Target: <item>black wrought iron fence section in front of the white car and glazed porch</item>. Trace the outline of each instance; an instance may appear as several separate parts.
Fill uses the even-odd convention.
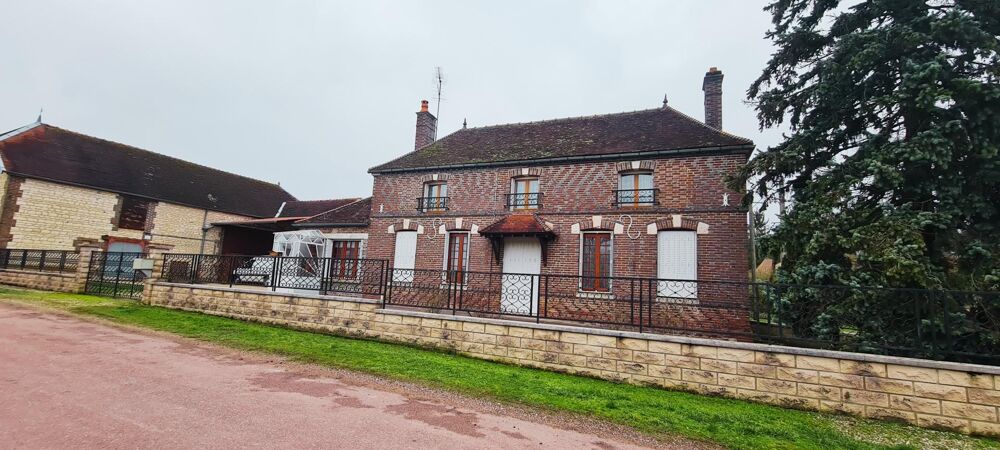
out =
[[[381,296],[386,261],[285,256],[167,254],[162,278],[175,283],[260,286]]]

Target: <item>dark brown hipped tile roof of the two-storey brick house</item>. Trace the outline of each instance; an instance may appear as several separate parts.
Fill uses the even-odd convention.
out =
[[[750,147],[671,107],[458,130],[372,173],[507,161]]]

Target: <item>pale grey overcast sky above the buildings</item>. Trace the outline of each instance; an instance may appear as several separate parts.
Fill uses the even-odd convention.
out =
[[[281,3],[279,5],[279,3]],[[761,133],[745,92],[772,51],[765,2],[0,0],[0,132],[44,122],[279,182],[367,196],[413,148],[421,99],[461,127],[671,106]]]

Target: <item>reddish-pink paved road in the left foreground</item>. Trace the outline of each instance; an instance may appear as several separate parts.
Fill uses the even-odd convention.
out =
[[[611,449],[641,441],[504,411],[0,302],[4,448]]]

